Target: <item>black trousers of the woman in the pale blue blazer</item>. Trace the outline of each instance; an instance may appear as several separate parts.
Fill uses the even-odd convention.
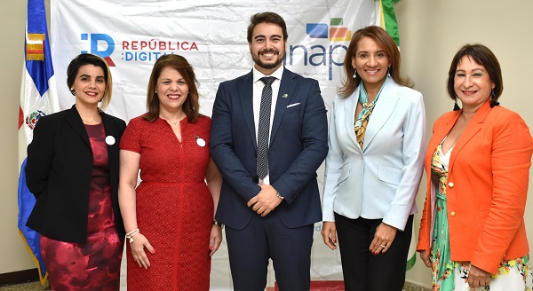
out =
[[[346,291],[401,291],[412,235],[413,216],[398,231],[385,254],[370,253],[381,219],[350,219],[335,213],[338,246]]]

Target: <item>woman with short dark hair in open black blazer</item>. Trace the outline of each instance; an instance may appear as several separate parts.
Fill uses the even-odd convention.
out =
[[[39,119],[28,146],[26,184],[36,206],[27,225],[41,233],[54,290],[118,290],[118,143],[126,124],[100,109],[112,93],[104,59],[80,54],[67,75],[76,104]]]

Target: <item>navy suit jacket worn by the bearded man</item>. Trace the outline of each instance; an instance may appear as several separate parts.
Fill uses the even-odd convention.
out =
[[[220,83],[213,106],[211,157],[224,177],[216,219],[243,229],[246,203],[261,190],[252,73]],[[289,228],[322,220],[316,169],[328,153],[328,122],[318,82],[283,70],[268,148],[270,184],[285,198],[269,216]]]

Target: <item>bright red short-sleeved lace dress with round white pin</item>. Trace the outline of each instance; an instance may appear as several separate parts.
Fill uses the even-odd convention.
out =
[[[136,189],[137,223],[155,254],[150,267],[133,261],[127,245],[128,290],[209,290],[209,239],[213,217],[211,193],[204,182],[211,160],[211,119],[179,122],[181,142],[163,119],[140,116],[128,124],[121,150],[140,153]]]

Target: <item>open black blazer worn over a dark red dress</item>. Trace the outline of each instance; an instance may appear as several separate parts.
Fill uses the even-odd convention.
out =
[[[118,143],[126,128],[123,120],[101,113],[107,145],[109,177],[115,224],[125,235],[118,208]],[[84,122],[76,107],[39,119],[28,146],[26,185],[36,196],[28,227],[53,240],[84,243],[92,173],[92,149]]]

